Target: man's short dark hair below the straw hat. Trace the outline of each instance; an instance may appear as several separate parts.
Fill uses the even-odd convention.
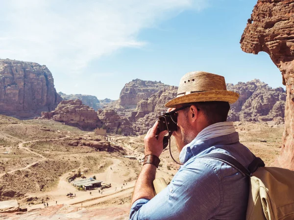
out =
[[[230,110],[230,104],[221,101],[194,102],[187,104],[194,105],[197,109],[203,111],[203,114],[210,125],[226,121]],[[188,112],[188,110],[189,108],[186,112]]]

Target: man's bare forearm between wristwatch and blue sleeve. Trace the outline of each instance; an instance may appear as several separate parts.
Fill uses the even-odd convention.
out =
[[[153,180],[155,179],[156,167],[152,164],[145,164],[135,185],[132,204],[139,198],[151,199],[155,196]]]

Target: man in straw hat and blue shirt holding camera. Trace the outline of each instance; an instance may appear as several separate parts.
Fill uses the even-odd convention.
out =
[[[181,78],[177,97],[166,104],[177,113],[173,132],[183,163],[171,183],[155,196],[155,178],[163,151],[163,131],[155,137],[157,122],[147,132],[145,160],[135,185],[131,220],[242,220],[245,219],[249,179],[216,159],[200,158],[223,153],[247,167],[253,154],[239,142],[232,122],[227,122],[229,104],[239,94],[226,90],[224,77],[190,72]]]

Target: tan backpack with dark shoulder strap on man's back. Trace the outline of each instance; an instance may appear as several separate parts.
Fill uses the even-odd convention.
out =
[[[204,157],[221,160],[250,177],[246,220],[294,220],[294,171],[265,167],[259,157],[247,169],[227,154],[201,156]]]

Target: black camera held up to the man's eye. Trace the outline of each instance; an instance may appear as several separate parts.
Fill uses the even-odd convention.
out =
[[[177,130],[176,125],[177,114],[175,112],[162,112],[162,115],[158,117],[158,126],[156,131],[156,137],[162,131],[168,130],[169,135]],[[165,149],[169,144],[169,136],[164,136],[163,138],[163,149]]]

